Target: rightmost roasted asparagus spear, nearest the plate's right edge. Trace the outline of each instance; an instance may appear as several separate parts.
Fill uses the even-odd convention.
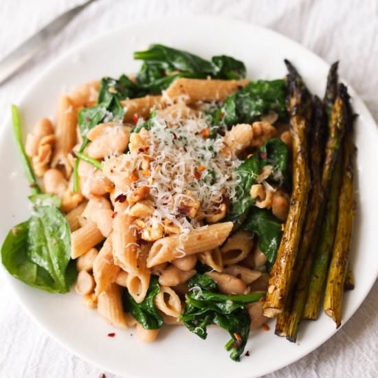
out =
[[[348,131],[346,133],[335,243],[333,245],[333,254],[324,295],[324,311],[333,318],[337,328],[342,322],[342,296],[348,271],[355,215],[353,188],[355,151],[353,125],[350,123],[348,124]]]

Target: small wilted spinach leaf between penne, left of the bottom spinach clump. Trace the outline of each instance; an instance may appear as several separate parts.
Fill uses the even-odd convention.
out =
[[[141,303],[135,302],[129,292],[127,290],[124,291],[126,311],[130,311],[135,320],[137,320],[144,329],[159,329],[163,325],[163,319],[157,312],[153,302],[159,291],[159,282],[155,276],[151,277],[146,298],[144,298]]]

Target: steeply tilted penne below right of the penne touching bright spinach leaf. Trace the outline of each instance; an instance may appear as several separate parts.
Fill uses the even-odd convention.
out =
[[[96,281],[96,295],[99,296],[109,284],[117,280],[120,267],[114,264],[112,236],[109,236],[93,261],[93,276]]]

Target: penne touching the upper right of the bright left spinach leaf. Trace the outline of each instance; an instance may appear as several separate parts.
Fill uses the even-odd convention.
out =
[[[71,258],[78,258],[103,240],[96,223],[88,221],[71,234]]]

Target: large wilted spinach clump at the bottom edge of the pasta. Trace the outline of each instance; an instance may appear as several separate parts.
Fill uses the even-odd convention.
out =
[[[249,315],[245,305],[257,302],[265,293],[229,296],[218,291],[218,285],[208,276],[196,274],[188,281],[190,293],[186,294],[186,308],[180,320],[202,339],[208,336],[207,326],[218,324],[228,331],[231,340],[225,348],[230,357],[239,360],[249,336]]]

